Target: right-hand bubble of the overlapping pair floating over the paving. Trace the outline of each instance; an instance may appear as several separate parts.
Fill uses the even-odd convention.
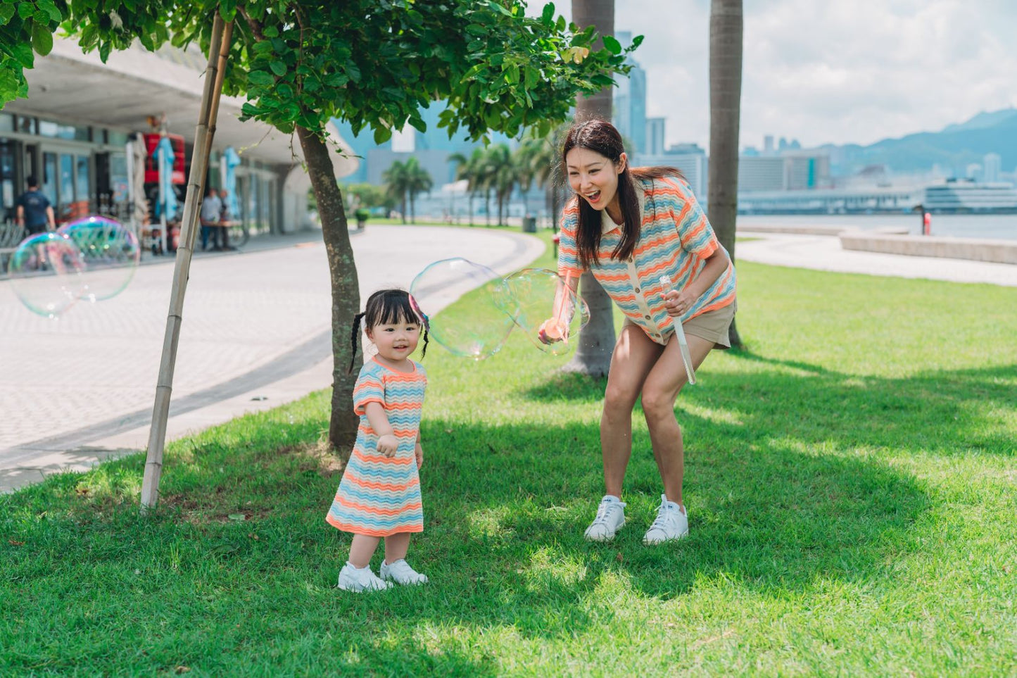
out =
[[[84,262],[81,298],[101,301],[119,294],[134,277],[141,248],[137,236],[102,216],[85,217],[60,227],[77,245]]]

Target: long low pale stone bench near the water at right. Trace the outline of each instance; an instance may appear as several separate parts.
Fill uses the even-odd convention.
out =
[[[889,235],[871,231],[843,231],[840,246],[911,257],[944,257],[1017,265],[1017,241],[954,238],[936,235]]]

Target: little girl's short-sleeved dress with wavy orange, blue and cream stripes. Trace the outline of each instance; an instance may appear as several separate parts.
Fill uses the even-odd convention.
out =
[[[325,516],[328,524],[338,529],[370,536],[424,529],[414,451],[427,373],[420,363],[411,362],[413,372],[402,373],[374,357],[360,371],[353,390],[353,408],[360,415],[357,442]],[[377,451],[378,436],[365,412],[369,402],[384,407],[399,439],[399,449],[392,457]]]

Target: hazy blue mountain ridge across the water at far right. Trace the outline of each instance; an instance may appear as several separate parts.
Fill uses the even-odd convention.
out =
[[[1017,166],[1017,109],[979,113],[938,132],[886,138],[870,146],[820,148],[830,152],[830,171],[837,176],[854,174],[870,165],[886,165],[893,172],[917,172],[939,165],[963,176],[967,165],[980,163],[988,153],[999,154],[1003,171],[1010,172]]]

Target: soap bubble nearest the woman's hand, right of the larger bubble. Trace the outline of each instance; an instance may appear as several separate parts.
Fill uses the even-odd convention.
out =
[[[590,309],[566,281],[547,269],[523,269],[505,278],[513,320],[537,348],[553,355],[576,349]]]

